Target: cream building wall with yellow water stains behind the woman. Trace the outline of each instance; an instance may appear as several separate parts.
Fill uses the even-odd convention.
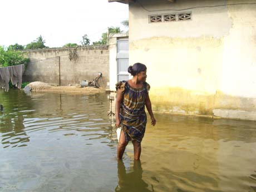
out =
[[[256,0],[109,2],[129,4],[154,111],[256,120]]]

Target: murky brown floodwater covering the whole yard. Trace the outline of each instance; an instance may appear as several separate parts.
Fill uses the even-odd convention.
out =
[[[116,160],[107,95],[0,90],[0,191],[256,191],[256,124],[156,114]]]

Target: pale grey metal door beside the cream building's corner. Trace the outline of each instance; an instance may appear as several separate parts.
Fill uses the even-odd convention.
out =
[[[129,41],[117,40],[117,81],[129,80]]]

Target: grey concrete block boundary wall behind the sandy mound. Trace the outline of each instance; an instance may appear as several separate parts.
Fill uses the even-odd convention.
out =
[[[24,51],[29,57],[23,81],[42,81],[62,86],[93,80],[102,72],[102,87],[109,82],[109,46],[76,48],[77,60],[70,60],[75,48],[49,48]]]

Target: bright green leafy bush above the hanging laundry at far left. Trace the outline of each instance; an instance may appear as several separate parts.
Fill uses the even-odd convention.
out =
[[[0,46],[0,66],[8,67],[24,64],[26,67],[28,62],[29,58],[24,57],[21,51],[5,50],[4,47]]]

